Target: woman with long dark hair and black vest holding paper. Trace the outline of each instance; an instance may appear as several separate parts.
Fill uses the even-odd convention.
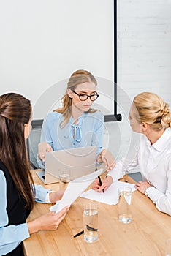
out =
[[[22,241],[39,230],[56,230],[68,207],[26,223],[34,200],[55,203],[63,192],[34,185],[26,152],[31,103],[20,94],[0,96],[0,255],[23,255]]]

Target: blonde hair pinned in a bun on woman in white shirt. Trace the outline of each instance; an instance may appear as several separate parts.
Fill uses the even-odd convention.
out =
[[[167,102],[152,92],[142,92],[134,97],[133,105],[137,109],[134,116],[140,123],[150,124],[155,130],[171,127],[171,112]]]

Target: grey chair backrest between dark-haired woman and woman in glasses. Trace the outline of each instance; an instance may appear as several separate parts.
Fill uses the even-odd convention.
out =
[[[39,169],[39,166],[37,165],[37,153],[42,129],[42,122],[42,119],[32,121],[32,130],[28,139],[26,140],[28,158],[30,160],[31,167],[34,169]]]

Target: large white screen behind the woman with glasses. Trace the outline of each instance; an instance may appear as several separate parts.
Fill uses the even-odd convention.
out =
[[[112,0],[0,1],[1,94],[24,94],[44,118],[72,72],[87,69],[98,80],[94,106],[112,114],[113,15]]]

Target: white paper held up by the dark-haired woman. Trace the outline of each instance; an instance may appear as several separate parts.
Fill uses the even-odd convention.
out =
[[[94,173],[90,173],[86,176],[76,178],[73,181],[69,182],[68,187],[66,188],[63,197],[56,205],[50,207],[50,211],[61,211],[65,206],[70,206],[79,195],[94,181],[94,179],[99,176],[104,170],[99,169]]]

